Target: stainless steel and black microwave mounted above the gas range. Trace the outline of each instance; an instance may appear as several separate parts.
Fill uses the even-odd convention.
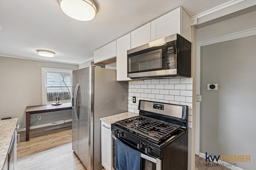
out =
[[[174,34],[127,51],[132,79],[191,76],[191,43]]]

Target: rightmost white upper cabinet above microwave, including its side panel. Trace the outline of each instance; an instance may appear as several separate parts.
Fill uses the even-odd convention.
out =
[[[151,41],[180,34],[191,42],[190,16],[179,7],[154,21],[151,21]]]

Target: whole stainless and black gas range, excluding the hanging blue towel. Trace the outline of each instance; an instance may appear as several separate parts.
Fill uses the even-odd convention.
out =
[[[139,109],[138,116],[111,125],[112,169],[118,138],[141,152],[141,170],[187,170],[188,106],[140,100]]]

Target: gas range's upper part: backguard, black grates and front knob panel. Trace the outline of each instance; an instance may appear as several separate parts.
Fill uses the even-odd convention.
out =
[[[186,138],[187,143],[188,106],[140,100],[139,109],[138,116],[111,125],[113,136],[159,159],[163,159],[165,148],[177,139]]]

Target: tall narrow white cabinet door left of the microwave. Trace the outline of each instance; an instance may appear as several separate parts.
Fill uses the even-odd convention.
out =
[[[116,40],[116,80],[131,80],[127,77],[127,50],[131,49],[131,33]]]

